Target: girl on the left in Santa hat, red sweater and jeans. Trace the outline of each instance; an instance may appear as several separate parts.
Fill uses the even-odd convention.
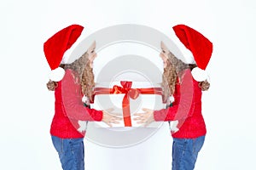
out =
[[[62,42],[65,42],[62,37],[69,41],[64,46],[70,43],[72,45],[82,30],[81,26],[69,26],[49,38],[44,43],[44,53],[48,61],[50,57],[57,57],[58,51],[55,48],[60,48]],[[70,42],[72,39],[73,42]],[[55,53],[49,51],[53,49],[52,46],[55,47]],[[85,107],[82,101],[83,95],[91,99],[93,94],[92,62],[96,58],[95,48],[96,42],[93,42],[79,59],[71,64],[60,65],[64,69],[64,76],[61,80],[49,80],[47,83],[47,88],[55,91],[55,116],[51,123],[50,134],[64,170],[84,170],[83,141],[88,121],[102,121],[109,126],[119,121],[118,117],[110,115],[107,111],[96,111]],[[62,55],[63,53],[61,57]],[[61,68],[57,70],[61,71]]]

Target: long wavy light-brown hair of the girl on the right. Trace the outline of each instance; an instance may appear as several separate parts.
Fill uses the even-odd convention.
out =
[[[165,99],[174,94],[175,86],[179,82],[177,80],[182,80],[182,73],[185,69],[194,69],[196,65],[194,64],[186,64],[181,59],[177,59],[177,57],[172,54],[171,51],[167,56],[166,60],[166,68],[164,68],[164,72],[162,75],[162,88]],[[203,82],[199,82],[199,87],[202,91],[208,90],[210,88],[210,83],[207,80]]]

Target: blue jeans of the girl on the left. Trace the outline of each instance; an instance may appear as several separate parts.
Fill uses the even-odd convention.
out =
[[[84,138],[61,139],[51,136],[63,170],[84,170]]]

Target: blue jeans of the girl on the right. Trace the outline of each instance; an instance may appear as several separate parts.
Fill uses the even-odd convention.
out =
[[[173,139],[172,170],[193,170],[198,152],[204,144],[205,136],[195,139]]]

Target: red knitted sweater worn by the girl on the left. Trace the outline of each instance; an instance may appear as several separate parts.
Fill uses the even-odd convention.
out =
[[[102,111],[84,107],[79,79],[68,69],[55,88],[55,116],[50,134],[62,139],[83,138],[84,121],[102,121]]]

